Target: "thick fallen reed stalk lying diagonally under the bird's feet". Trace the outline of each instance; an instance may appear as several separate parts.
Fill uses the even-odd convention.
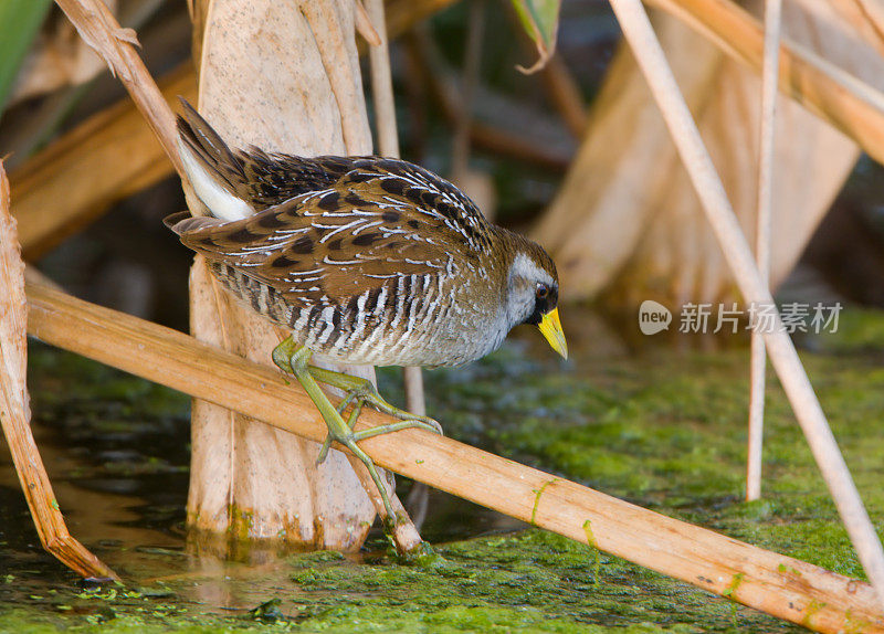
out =
[[[192,337],[29,284],[29,332],[48,344],[319,441],[326,427],[275,369]],[[292,411],[309,415],[292,416]],[[392,419],[366,410],[359,426]],[[360,443],[415,480],[819,632],[884,632],[874,590],[419,430]],[[506,495],[502,495],[506,492]]]

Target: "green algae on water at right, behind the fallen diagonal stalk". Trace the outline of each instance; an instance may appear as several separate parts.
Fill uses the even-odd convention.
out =
[[[876,318],[881,320],[880,315]],[[881,337],[884,329],[864,325]],[[852,337],[854,350],[869,350]],[[877,339],[876,339],[877,340]],[[884,371],[880,361],[829,345],[803,353],[832,430],[870,515],[884,526],[880,487]],[[567,475],[671,516],[787,552],[836,572],[863,577],[803,435],[776,380],[770,381],[765,441],[765,499],[745,503],[748,358],[650,353],[643,364],[610,362],[594,371],[611,387],[603,399],[575,390],[565,406],[580,415],[558,426],[540,418],[490,430],[494,446],[516,459]],[[672,364],[680,366],[673,372]],[[612,378],[614,380],[612,380]],[[535,381],[547,381],[538,374]],[[550,378],[558,391],[558,379]],[[610,394],[617,404],[608,404]]]

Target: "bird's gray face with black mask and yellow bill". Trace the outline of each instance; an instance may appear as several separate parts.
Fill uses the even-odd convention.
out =
[[[558,300],[559,284],[552,274],[530,255],[517,254],[507,277],[505,305],[509,325],[537,326],[552,349],[567,359],[568,345],[559,321]]]

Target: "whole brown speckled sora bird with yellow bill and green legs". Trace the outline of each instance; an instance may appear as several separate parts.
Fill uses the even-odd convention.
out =
[[[552,260],[488,223],[456,187],[419,166],[231,150],[181,102],[181,160],[212,215],[182,212],[166,224],[235,297],[292,331],[273,360],[323,414],[328,437],[319,462],[332,441],[348,447],[393,518],[357,443],[414,426],[441,432],[439,424],[390,405],[365,379],[308,364],[311,355],[354,364],[459,366],[498,348],[514,326],[534,324],[567,357]],[[317,381],[346,390],[346,398],[334,406]],[[365,404],[400,421],[356,432]]]

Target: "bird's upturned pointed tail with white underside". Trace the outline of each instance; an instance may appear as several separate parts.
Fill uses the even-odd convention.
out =
[[[242,193],[246,180],[242,159],[187,99],[179,99],[178,151],[194,192],[215,218],[232,221],[252,215],[255,210]]]

